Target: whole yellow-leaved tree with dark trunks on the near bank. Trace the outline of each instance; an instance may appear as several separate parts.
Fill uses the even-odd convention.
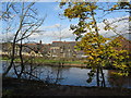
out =
[[[64,4],[66,2],[61,2],[60,7]],[[79,19],[78,25],[71,25],[71,29],[78,36],[76,40],[81,38],[81,41],[78,42],[78,49],[85,52],[85,56],[87,56],[87,65],[92,68],[87,82],[92,82],[94,73],[96,73],[97,86],[100,86],[99,82],[102,82],[102,86],[105,87],[103,73],[105,64],[108,62],[119,68],[119,70],[122,66],[122,71],[128,74],[127,65],[120,63],[124,59],[123,53],[127,56],[128,52],[127,50],[118,51],[114,48],[120,47],[120,42],[117,39],[111,41],[114,38],[106,38],[99,34],[98,22],[96,20],[98,8],[97,2],[69,2],[63,15],[70,20]],[[121,58],[118,58],[119,56]]]

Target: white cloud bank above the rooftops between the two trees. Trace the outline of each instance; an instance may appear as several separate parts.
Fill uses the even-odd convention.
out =
[[[75,35],[73,35],[72,30],[69,30],[70,27],[60,27],[61,29],[57,29],[60,27],[60,24],[55,24],[51,26],[43,26],[40,28],[45,29],[46,32],[37,33],[28,37],[31,40],[44,40],[44,42],[51,42],[55,40],[75,40]],[[52,29],[51,29],[52,28]],[[56,29],[55,29],[56,28]],[[40,30],[40,29],[39,29]]]

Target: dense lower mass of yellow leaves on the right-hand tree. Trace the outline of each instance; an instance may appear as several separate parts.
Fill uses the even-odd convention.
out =
[[[106,42],[106,41],[109,42]],[[86,33],[86,35],[78,42],[78,47],[87,56],[88,64],[106,63],[110,61],[111,65],[119,70],[127,70],[127,63],[123,63],[126,59],[129,59],[129,52],[127,50],[116,50],[115,47],[120,47],[121,42],[118,39],[105,38],[102,35],[95,33]]]

